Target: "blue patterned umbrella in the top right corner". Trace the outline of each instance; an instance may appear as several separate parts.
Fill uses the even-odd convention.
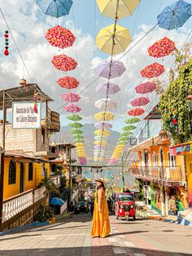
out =
[[[157,16],[158,24],[163,29],[177,29],[182,27],[191,16],[191,4],[183,0],[165,7]]]

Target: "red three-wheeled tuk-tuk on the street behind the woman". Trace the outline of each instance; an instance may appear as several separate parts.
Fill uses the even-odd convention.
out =
[[[126,218],[126,220],[129,220],[129,217],[136,219],[136,204],[133,199],[133,193],[127,192],[117,194],[115,214],[117,219]]]

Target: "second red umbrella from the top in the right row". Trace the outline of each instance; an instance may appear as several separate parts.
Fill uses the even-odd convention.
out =
[[[154,64],[146,66],[146,68],[143,68],[141,71],[142,77],[147,78],[159,77],[159,75],[161,75],[162,73],[164,73],[164,65],[156,62]]]

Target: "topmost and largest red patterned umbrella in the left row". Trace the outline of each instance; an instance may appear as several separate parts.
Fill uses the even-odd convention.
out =
[[[63,49],[72,46],[76,38],[70,30],[58,25],[47,30],[46,40],[50,42],[51,46],[56,46]]]

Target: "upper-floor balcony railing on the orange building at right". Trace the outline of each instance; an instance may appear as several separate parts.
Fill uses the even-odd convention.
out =
[[[146,179],[158,183],[182,183],[181,166],[140,167],[130,169],[131,174],[137,179]]]

